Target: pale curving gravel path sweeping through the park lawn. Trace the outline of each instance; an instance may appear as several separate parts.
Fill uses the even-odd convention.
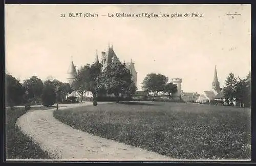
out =
[[[91,102],[82,105],[91,105]],[[61,106],[61,105],[60,105]],[[69,107],[80,105],[69,105]],[[67,109],[60,107],[59,109]],[[53,117],[54,109],[34,110],[18,118],[16,125],[56,159],[74,160],[170,160],[155,152],[132,147],[74,129]]]

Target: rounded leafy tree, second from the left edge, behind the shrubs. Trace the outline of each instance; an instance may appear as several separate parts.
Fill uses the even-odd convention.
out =
[[[26,79],[23,85],[25,87],[25,90],[27,91],[29,99],[32,99],[34,97],[39,98],[42,94],[42,88],[44,88],[42,80],[37,76],[32,76],[31,78]]]

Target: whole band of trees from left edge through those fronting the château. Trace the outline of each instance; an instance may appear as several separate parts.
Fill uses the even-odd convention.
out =
[[[53,105],[65,101],[72,91],[81,96],[80,102],[88,91],[92,92],[94,101],[99,96],[114,94],[118,102],[119,95],[131,97],[136,90],[130,70],[121,62],[110,63],[103,71],[99,62],[83,66],[78,70],[72,85],[57,79],[42,82],[37,76],[26,79],[22,84],[11,74],[6,74],[6,104],[9,106],[40,102]]]

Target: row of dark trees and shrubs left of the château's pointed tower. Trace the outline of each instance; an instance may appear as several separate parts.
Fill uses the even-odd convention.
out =
[[[72,92],[68,83],[57,79],[47,79],[42,82],[37,76],[32,76],[21,83],[11,74],[6,74],[6,104],[15,106],[26,103],[43,103],[53,105],[55,101],[63,102]]]

